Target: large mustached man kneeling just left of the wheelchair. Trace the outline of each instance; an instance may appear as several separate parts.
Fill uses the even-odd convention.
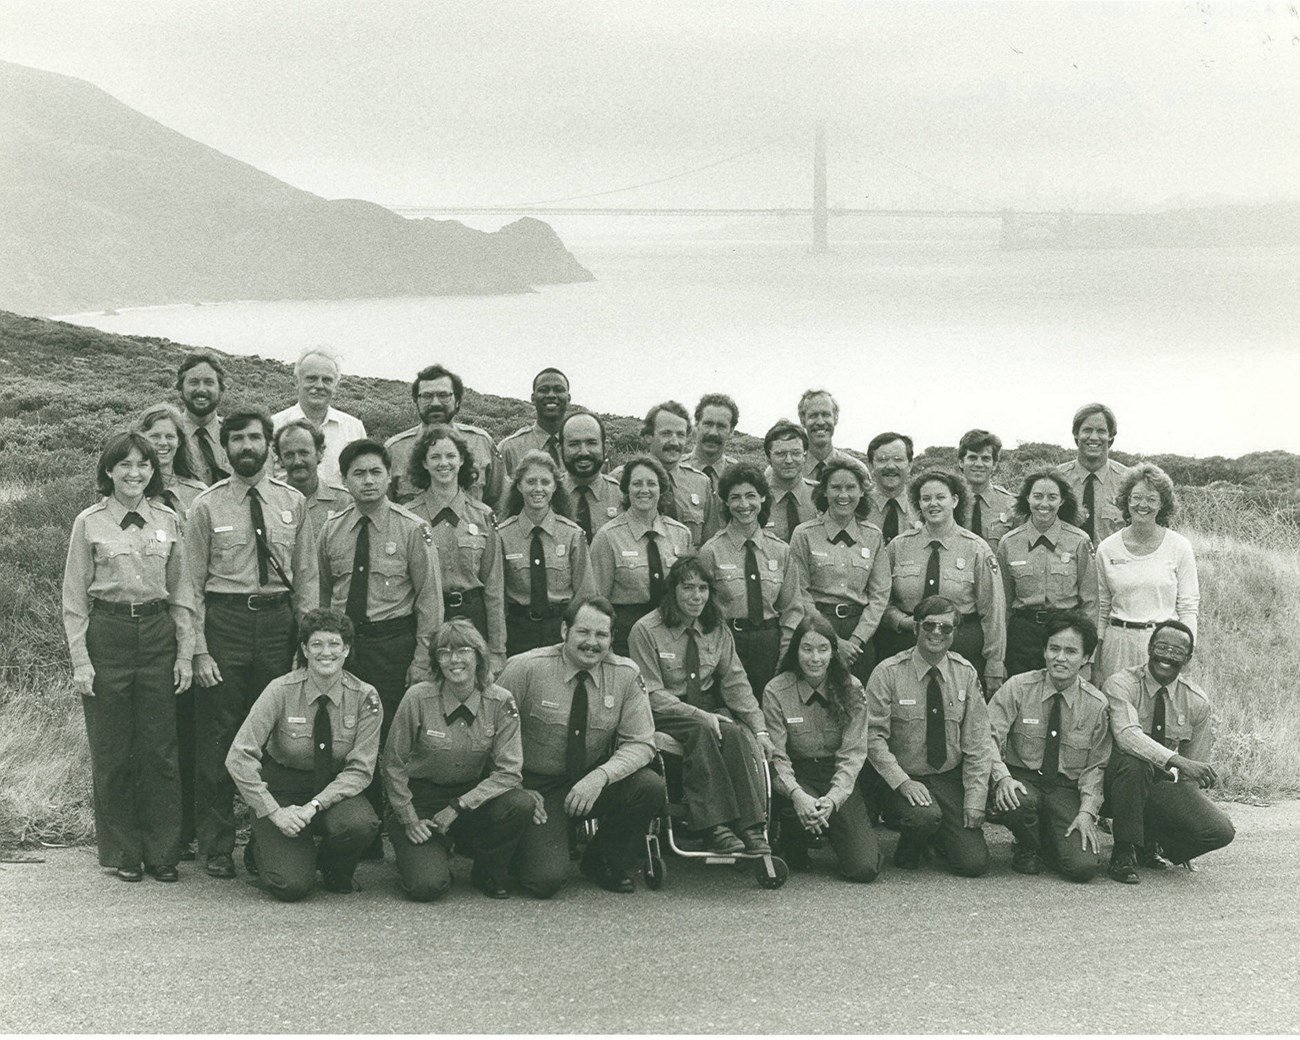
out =
[[[515,694],[523,723],[524,789],[541,802],[515,853],[514,875],[538,898],[568,878],[568,824],[588,816],[599,829],[581,871],[607,892],[633,892],[629,871],[646,828],[663,807],[654,758],[650,697],[637,666],[610,653],[614,607],[575,599],[563,642],[512,656],[497,679]]]

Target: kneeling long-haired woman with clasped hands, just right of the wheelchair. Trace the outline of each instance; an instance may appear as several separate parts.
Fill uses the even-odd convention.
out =
[[[763,716],[772,734],[774,786],[783,814],[781,857],[807,866],[809,835],[826,832],[850,881],[874,881],[884,862],[858,774],[867,760],[867,699],[838,655],[840,637],[820,614],[794,629],[781,670],[767,684]]]

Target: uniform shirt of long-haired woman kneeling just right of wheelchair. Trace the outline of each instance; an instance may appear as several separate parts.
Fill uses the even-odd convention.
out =
[[[853,710],[844,725],[836,720],[820,697],[794,672],[781,672],[763,693],[763,718],[776,745],[772,772],[777,792],[789,798],[800,789],[794,763],[811,758],[835,757],[835,776],[827,797],[841,809],[853,794],[858,774],[867,760],[867,694],[855,676],[850,699]],[[824,696],[824,694],[823,694]]]

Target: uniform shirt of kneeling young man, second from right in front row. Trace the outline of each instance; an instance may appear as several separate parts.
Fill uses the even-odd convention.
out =
[[[1049,698],[1056,688],[1045,670],[1013,675],[988,702],[997,758],[993,783],[1010,776],[1008,766],[1041,770],[1046,749]],[[1061,702],[1061,744],[1057,768],[1079,784],[1079,809],[1101,811],[1102,780],[1110,760],[1110,712],[1105,694],[1082,679],[1065,690]]]

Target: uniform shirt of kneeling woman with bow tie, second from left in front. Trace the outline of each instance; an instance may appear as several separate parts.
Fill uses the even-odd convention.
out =
[[[474,786],[460,796],[465,809],[477,809],[520,785],[524,745],[515,698],[500,686],[474,690],[464,706],[471,722],[451,716],[462,702],[442,682],[417,682],[398,705],[384,746],[384,789],[398,822],[419,819],[411,801],[411,781]]]

